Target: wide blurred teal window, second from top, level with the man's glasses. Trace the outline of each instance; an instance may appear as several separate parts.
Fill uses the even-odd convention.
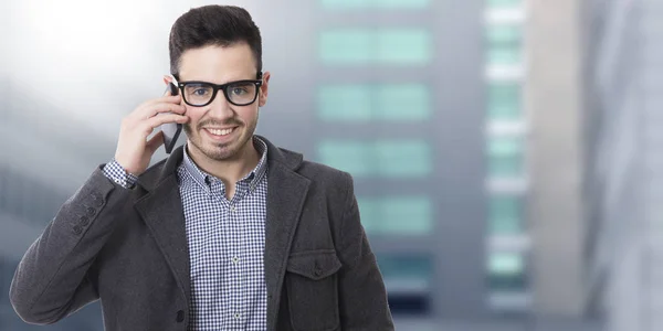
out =
[[[421,121],[431,116],[430,89],[423,84],[326,85],[318,90],[325,121]]]

